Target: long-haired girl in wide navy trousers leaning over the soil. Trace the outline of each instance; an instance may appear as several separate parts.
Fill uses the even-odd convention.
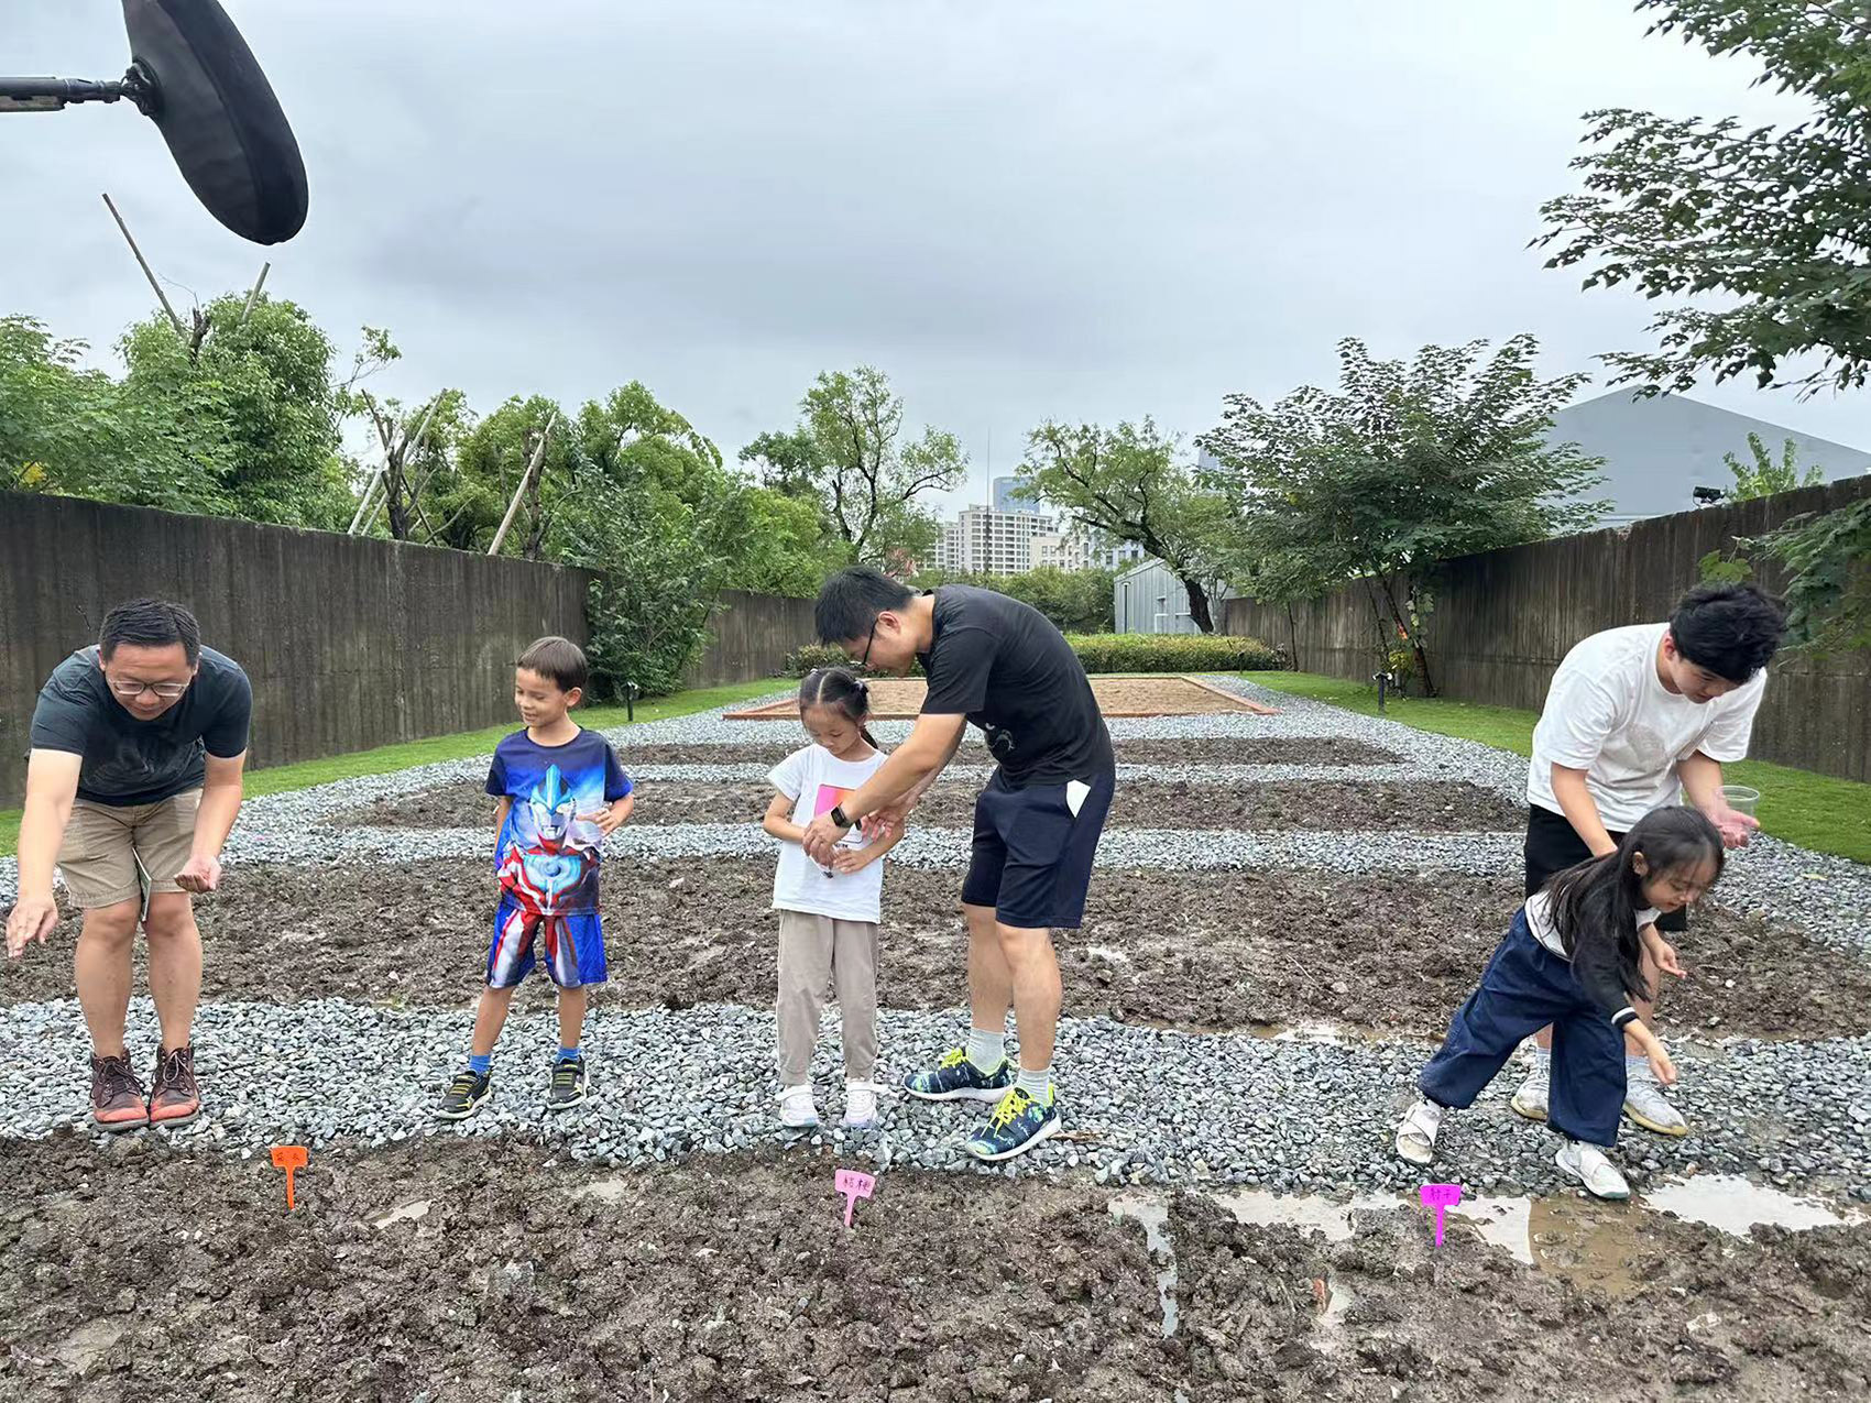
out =
[[[1701,900],[1721,862],[1721,834],[1701,812],[1658,808],[1615,853],[1566,868],[1529,896],[1424,1066],[1416,1081],[1424,1100],[1398,1126],[1398,1154],[1429,1164],[1443,1111],[1472,1106],[1521,1040],[1551,1023],[1547,1124],[1566,1137],[1555,1164],[1600,1199],[1630,1197],[1603,1154],[1617,1145],[1624,1107],[1624,1036],[1643,1048],[1658,1081],[1676,1081],[1661,1040],[1632,1006],[1654,997],[1639,965],[1641,932]],[[1682,975],[1676,952],[1661,950],[1660,967]]]

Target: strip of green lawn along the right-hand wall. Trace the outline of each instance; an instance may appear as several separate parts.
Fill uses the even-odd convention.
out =
[[[1278,692],[1330,702],[1366,716],[1377,715],[1377,688],[1370,683],[1319,677],[1310,672],[1240,675]],[[1497,750],[1512,750],[1516,756],[1532,754],[1532,728],[1540,720],[1538,713],[1517,707],[1484,707],[1416,696],[1386,700],[1385,715],[1418,731],[1480,741]],[[1762,831],[1800,847],[1811,847],[1815,853],[1837,853],[1856,862],[1871,862],[1871,784],[1809,774],[1762,759],[1723,765],[1723,776],[1731,784],[1748,784],[1761,791]]]

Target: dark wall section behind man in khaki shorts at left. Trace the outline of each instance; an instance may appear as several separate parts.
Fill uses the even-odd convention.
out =
[[[513,658],[586,642],[586,574],[329,531],[0,492],[0,806],[21,803],[47,673],[159,595],[253,679],[253,763],[513,720]]]

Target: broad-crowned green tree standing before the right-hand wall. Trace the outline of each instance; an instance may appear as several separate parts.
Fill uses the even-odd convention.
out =
[[[1514,337],[1424,346],[1409,363],[1338,346],[1342,389],[1304,385],[1276,404],[1229,395],[1203,436],[1211,483],[1239,503],[1237,571],[1265,599],[1362,578],[1377,657],[1411,649],[1435,694],[1422,621],[1429,567],[1456,556],[1579,529],[1603,511],[1577,501],[1600,460],[1551,445],[1553,413],[1585,376],[1540,382],[1538,342]]]

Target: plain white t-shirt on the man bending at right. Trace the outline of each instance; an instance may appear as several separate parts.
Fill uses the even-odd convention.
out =
[[[1574,647],[1553,673],[1532,733],[1527,801],[1560,814],[1553,765],[1585,771],[1585,788],[1613,832],[1676,803],[1676,763],[1701,750],[1723,763],[1746,759],[1766,668],[1746,685],[1695,703],[1663,690],[1656,675],[1667,623],[1607,629]]]

